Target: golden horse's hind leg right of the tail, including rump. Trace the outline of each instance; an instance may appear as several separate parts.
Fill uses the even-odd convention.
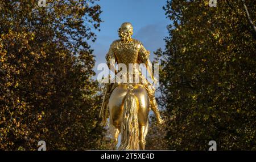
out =
[[[147,91],[143,86],[136,86],[134,94],[139,102],[138,121],[139,121],[139,148],[145,150],[146,135],[148,131],[148,111],[150,100],[148,99]]]

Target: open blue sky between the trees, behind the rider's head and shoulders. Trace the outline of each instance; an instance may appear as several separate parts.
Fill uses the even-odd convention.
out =
[[[133,24],[133,38],[150,50],[151,61],[156,49],[164,49],[163,39],[168,34],[167,24],[170,24],[163,10],[166,0],[101,0],[97,4],[101,6],[103,22],[101,31],[96,31],[96,42],[90,43],[96,56],[96,73],[99,73],[97,65],[106,62],[106,53],[112,41],[118,39],[117,30],[123,22]]]

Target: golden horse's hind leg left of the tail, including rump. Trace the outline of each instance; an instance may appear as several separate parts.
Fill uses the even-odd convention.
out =
[[[112,150],[118,144],[118,136],[120,133],[120,125],[123,114],[123,100],[126,96],[127,89],[125,86],[116,87],[109,98],[109,114],[110,114],[110,134],[112,136]]]

